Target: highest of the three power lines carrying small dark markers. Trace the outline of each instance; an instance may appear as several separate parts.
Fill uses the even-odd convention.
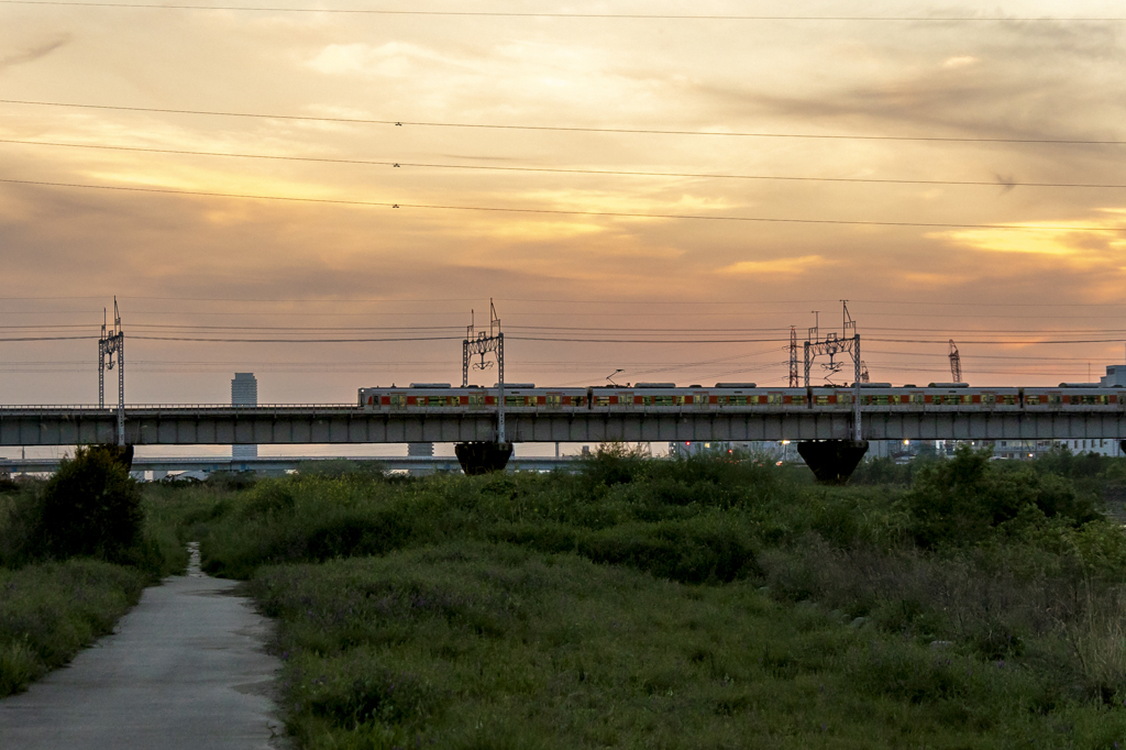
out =
[[[0,3],[5,0],[0,0]],[[245,111],[221,111],[213,109],[170,109],[162,107],[123,107],[115,105],[91,105],[66,101],[33,101],[27,99],[0,99],[0,104],[30,105],[37,107],[70,107],[78,109],[108,109],[114,111],[148,111],[166,115],[208,115],[214,117],[248,117],[257,119],[286,119],[313,123],[351,123],[357,125],[392,125],[414,127],[471,127],[479,130],[500,131],[547,131],[555,133],[624,133],[629,135],[709,135],[740,136],[756,139],[808,139],[831,141],[919,141],[938,143],[1039,143],[1060,145],[1126,145],[1126,140],[1091,140],[1091,139],[985,139],[957,136],[924,135],[848,135],[843,133],[770,133],[743,131],[665,131],[653,128],[629,127],[572,127],[561,125],[508,125],[495,123],[439,123],[432,120],[406,119],[368,119],[361,117],[316,117],[312,115],[278,115]]]

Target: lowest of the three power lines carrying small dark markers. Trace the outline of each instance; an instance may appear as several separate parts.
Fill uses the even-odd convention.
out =
[[[200,196],[209,198],[244,198],[250,200],[284,200],[289,203],[309,203],[339,206],[364,206],[378,208],[419,208],[423,211],[466,211],[482,213],[506,213],[506,214],[539,214],[554,216],[592,216],[606,218],[667,218],[667,220],[690,220],[690,221],[718,221],[718,222],[747,222],[767,224],[820,224],[820,225],[844,225],[844,226],[887,226],[887,227],[920,227],[920,229],[989,229],[989,230],[1015,230],[1026,232],[1126,232],[1126,226],[1054,226],[1054,225],[1021,225],[1021,224],[956,224],[945,222],[879,222],[841,218],[788,218],[767,216],[708,216],[706,214],[643,214],[623,211],[569,211],[562,208],[512,208],[502,206],[455,206],[422,203],[388,203],[385,200],[350,200],[345,198],[300,198],[294,196],[276,195],[247,195],[239,193],[217,193],[211,190],[172,190],[169,188],[142,188],[118,185],[83,185],[79,182],[48,182],[44,180],[16,180],[0,178],[0,182],[9,185],[30,185],[36,187],[74,188],[86,190],[117,190],[123,193],[153,193],[160,195],[184,195]]]

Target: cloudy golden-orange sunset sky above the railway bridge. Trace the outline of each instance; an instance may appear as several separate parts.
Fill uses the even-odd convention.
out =
[[[510,382],[785,384],[843,298],[874,381],[1123,361],[1120,2],[226,5],[0,0],[2,338],[92,337],[0,402],[114,295],[136,403],[456,384],[490,297]]]

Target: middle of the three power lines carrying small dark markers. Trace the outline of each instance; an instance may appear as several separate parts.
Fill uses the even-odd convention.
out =
[[[188,151],[185,149],[146,149],[142,146],[104,145],[97,143],[61,143],[52,141],[21,141],[17,139],[0,139],[0,143],[19,145],[42,145],[68,149],[93,149],[100,151],[127,151],[141,153],[166,153],[190,157],[226,157],[233,159],[261,159],[270,161],[297,161],[322,164],[359,164],[365,167],[391,167],[414,169],[452,169],[462,171],[498,171],[498,172],[536,172],[549,175],[599,175],[608,177],[680,177],[691,179],[722,180],[770,180],[790,182],[849,182],[874,185],[949,185],[975,187],[1038,187],[1038,188],[1103,188],[1123,189],[1126,185],[1106,185],[1098,182],[1017,182],[1001,180],[909,180],[894,178],[867,177],[792,177],[783,175],[723,175],[716,172],[652,172],[627,169],[564,169],[556,167],[498,167],[494,164],[446,164],[436,162],[410,162],[374,159],[330,159],[327,157],[288,157],[282,154],[235,153],[227,151]]]

